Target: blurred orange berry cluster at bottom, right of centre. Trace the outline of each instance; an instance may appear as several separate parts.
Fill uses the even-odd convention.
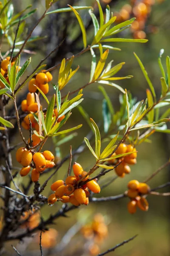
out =
[[[85,239],[91,241],[88,247],[90,255],[99,254],[99,244],[101,244],[108,235],[108,227],[105,224],[103,215],[100,213],[96,214],[91,224],[84,225],[81,232]]]

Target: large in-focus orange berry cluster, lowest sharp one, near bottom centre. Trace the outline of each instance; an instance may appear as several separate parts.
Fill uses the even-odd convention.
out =
[[[75,176],[68,176],[65,180],[57,180],[51,185],[51,190],[55,191],[48,197],[48,205],[52,206],[56,201],[62,201],[62,203],[71,203],[75,206],[80,204],[88,205],[90,196],[90,189],[94,193],[100,192],[100,186],[96,180],[88,181],[82,187],[78,187],[78,180],[88,180],[87,172],[83,171],[82,166],[79,163],[74,163],[73,172]]]

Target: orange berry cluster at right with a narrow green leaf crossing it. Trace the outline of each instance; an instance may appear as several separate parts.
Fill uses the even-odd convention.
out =
[[[112,155],[112,156],[116,156],[117,154],[125,154],[128,152],[133,152],[133,153],[125,157],[120,157],[120,158],[116,158],[108,161],[111,164],[118,164],[122,162],[114,169],[116,174],[119,177],[124,177],[125,174],[130,173],[131,170],[128,164],[130,165],[136,164],[136,157],[137,157],[136,148],[133,147],[133,145],[131,144],[126,145],[125,143],[121,143],[119,145],[119,148]]]

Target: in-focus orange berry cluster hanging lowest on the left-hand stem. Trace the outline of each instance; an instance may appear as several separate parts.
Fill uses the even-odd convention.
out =
[[[55,166],[54,163],[54,155],[51,151],[45,150],[43,153],[36,152],[32,153],[27,150],[27,148],[18,148],[16,152],[16,159],[23,168],[20,170],[20,175],[26,176],[31,170],[31,166],[33,166],[31,172],[31,180],[33,182],[37,182],[40,177],[40,173],[44,172],[47,168],[53,168]],[[33,160],[34,163],[31,163]]]

